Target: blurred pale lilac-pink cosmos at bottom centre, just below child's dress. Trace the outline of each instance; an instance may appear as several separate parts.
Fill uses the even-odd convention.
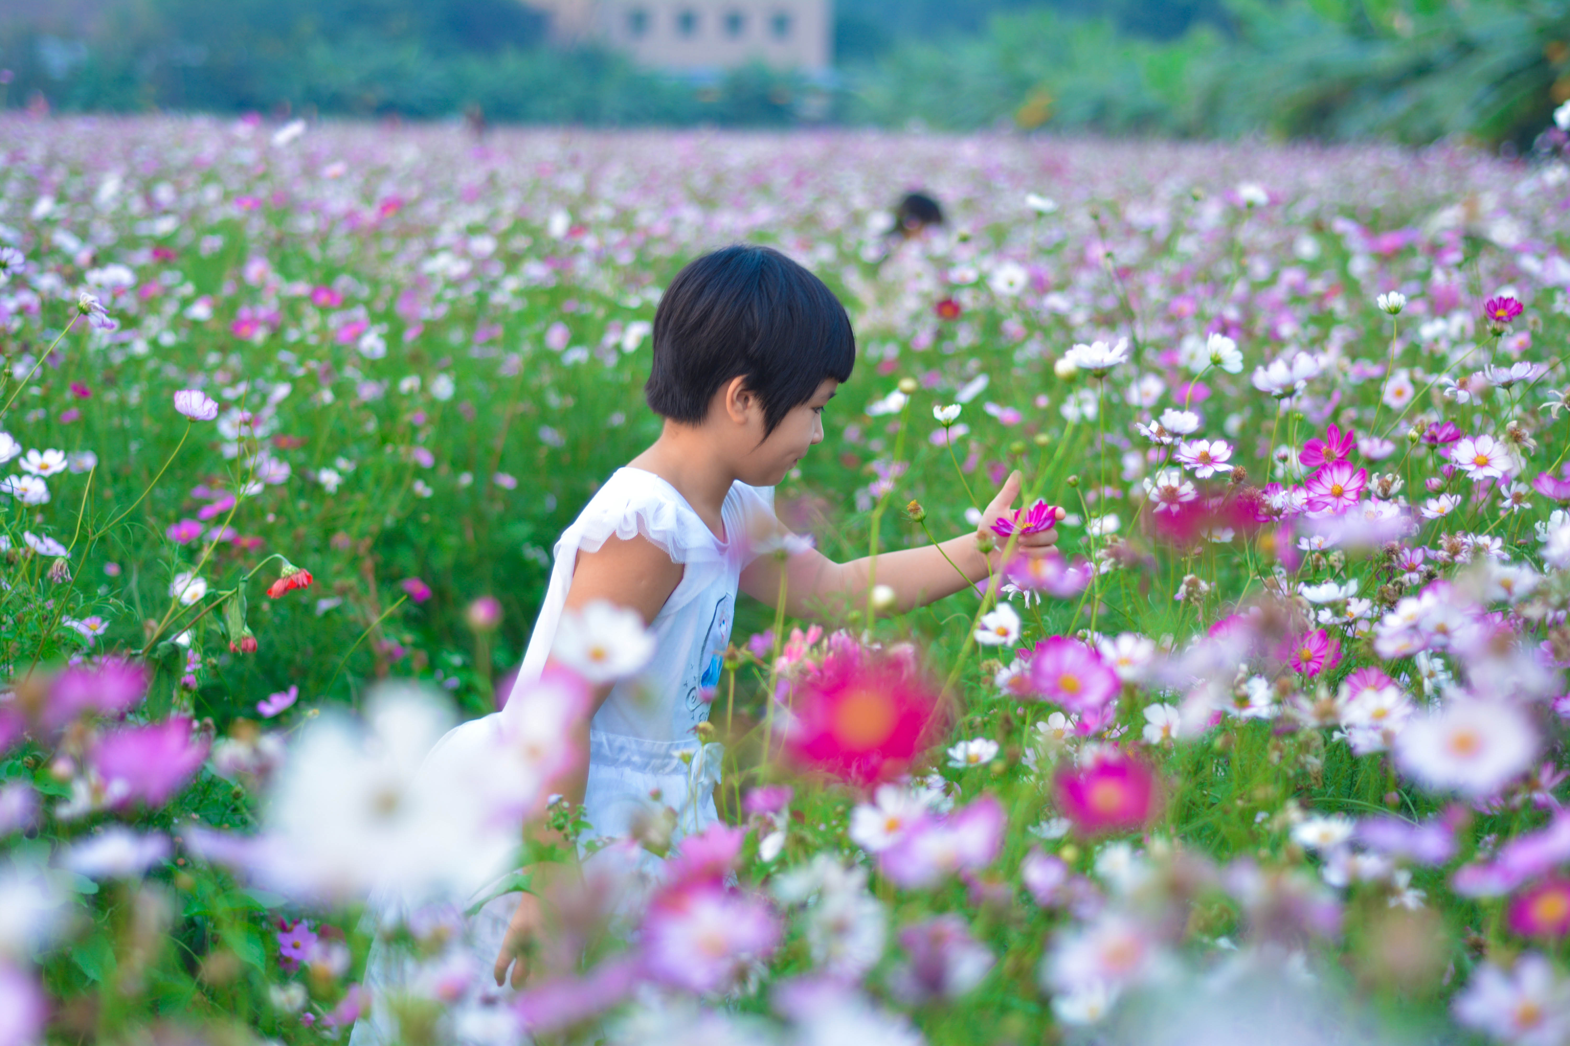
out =
[[[717,886],[666,892],[644,919],[644,971],[686,991],[724,991],[779,939],[779,921],[757,897]]]

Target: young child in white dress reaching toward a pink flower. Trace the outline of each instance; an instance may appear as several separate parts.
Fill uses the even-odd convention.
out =
[[[834,293],[783,254],[730,246],[681,270],[659,301],[653,329],[648,406],[664,417],[652,447],[619,469],[556,544],[556,565],[513,699],[495,717],[465,723],[438,745],[447,756],[463,735],[523,715],[517,699],[540,677],[564,612],[598,601],[636,610],[655,638],[652,663],[636,679],[592,695],[592,721],[564,743],[578,746],[575,770],[548,792],[582,803],[589,836],[633,831],[650,795],[680,812],[675,839],[717,820],[717,768],[689,765],[694,728],[708,718],[705,687],[717,682],[730,641],[736,591],[794,616],[835,615],[867,599],[871,583],[893,590],[900,610],[950,596],[995,571],[1000,550],[983,554],[978,535],[1011,510],[1019,474],[983,513],[981,528],[942,546],[834,563],[805,543],[787,560],[761,555],[790,535],[774,518],[772,488],[823,441],[823,411],[851,376],[856,340]],[[1019,543],[1042,554],[1055,530]],[[991,557],[991,561],[989,561]],[[958,568],[958,571],[956,571]],[[874,577],[876,572],[876,577]],[[451,745],[451,746],[449,746]],[[436,753],[433,753],[435,756]],[[689,756],[683,762],[683,754]],[[542,830],[537,830],[537,837]],[[524,955],[540,927],[540,902],[524,892],[506,914],[479,913],[477,947],[495,952],[495,979],[528,975]],[[504,911],[504,910],[502,910]],[[369,971],[367,971],[369,983]],[[371,1041],[356,1029],[355,1046]]]

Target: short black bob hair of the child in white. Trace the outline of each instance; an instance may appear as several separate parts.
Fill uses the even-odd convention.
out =
[[[677,273],[655,311],[655,364],[644,397],[655,414],[700,423],[714,394],[746,378],[765,436],[824,378],[846,381],[856,336],[823,281],[766,246],[739,243]]]

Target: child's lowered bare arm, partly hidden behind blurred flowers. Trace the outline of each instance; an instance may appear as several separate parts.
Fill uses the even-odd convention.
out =
[[[565,608],[581,610],[597,599],[606,601],[636,610],[647,626],[681,583],[681,571],[680,563],[674,563],[664,549],[645,538],[623,541],[611,536],[598,552],[578,554],[573,587],[567,591]],[[562,739],[562,743],[573,746],[576,759],[571,761],[570,772],[546,786],[546,795],[562,795],[571,803],[584,801],[584,789],[589,783],[589,720],[609,695],[609,684],[597,687],[590,707],[578,721],[571,737]],[[554,833],[545,825],[534,825],[532,833],[540,842],[560,842],[551,837]],[[496,955],[493,972],[498,985],[506,983],[509,966],[512,966],[513,988],[520,986],[529,975],[526,949],[540,928],[540,899],[535,894],[521,894],[512,922],[507,925],[501,953]]]

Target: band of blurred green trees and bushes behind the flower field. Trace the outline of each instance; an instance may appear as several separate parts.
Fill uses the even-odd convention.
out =
[[[46,5],[44,9],[50,9]],[[60,5],[66,11],[66,5]],[[578,124],[1528,144],[1570,97],[1570,0],[840,0],[832,83],[696,80],[545,44],[517,0],[102,0],[0,22],[13,105]],[[1090,17],[1090,13],[1096,13]]]

